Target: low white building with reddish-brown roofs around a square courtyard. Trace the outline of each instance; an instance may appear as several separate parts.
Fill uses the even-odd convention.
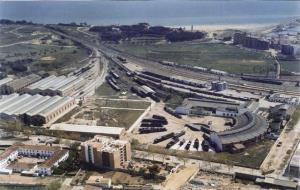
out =
[[[22,163],[17,161],[18,156],[23,157],[44,157],[44,162],[38,163]],[[45,145],[25,145],[15,144],[7,148],[0,154],[0,171],[5,173],[20,172],[30,175],[52,175],[53,168],[59,166],[60,162],[65,161],[69,157],[69,151],[60,147],[52,147]],[[12,164],[13,161],[17,161]]]

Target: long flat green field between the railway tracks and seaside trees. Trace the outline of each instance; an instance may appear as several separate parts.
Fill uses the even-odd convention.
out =
[[[272,68],[274,63],[266,52],[254,52],[216,43],[193,41],[139,45],[125,42],[114,47],[146,59],[168,60],[230,73],[263,73]]]

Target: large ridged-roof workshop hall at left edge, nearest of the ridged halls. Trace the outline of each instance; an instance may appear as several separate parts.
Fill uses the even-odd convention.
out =
[[[42,96],[30,94],[11,94],[0,99],[2,119],[19,118],[28,125],[49,124],[77,105],[75,99],[60,96]]]

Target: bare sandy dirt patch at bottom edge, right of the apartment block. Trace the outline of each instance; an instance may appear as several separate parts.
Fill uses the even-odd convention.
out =
[[[182,169],[179,169],[178,172],[175,172],[168,176],[167,180],[163,184],[164,190],[174,190],[179,189],[181,186],[183,186],[191,176],[193,176],[196,172],[198,172],[199,168],[197,166],[195,167],[183,167]]]

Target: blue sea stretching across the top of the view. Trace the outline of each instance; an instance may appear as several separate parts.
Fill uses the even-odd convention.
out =
[[[293,0],[0,0],[0,18],[56,24],[278,24],[300,17]]]

